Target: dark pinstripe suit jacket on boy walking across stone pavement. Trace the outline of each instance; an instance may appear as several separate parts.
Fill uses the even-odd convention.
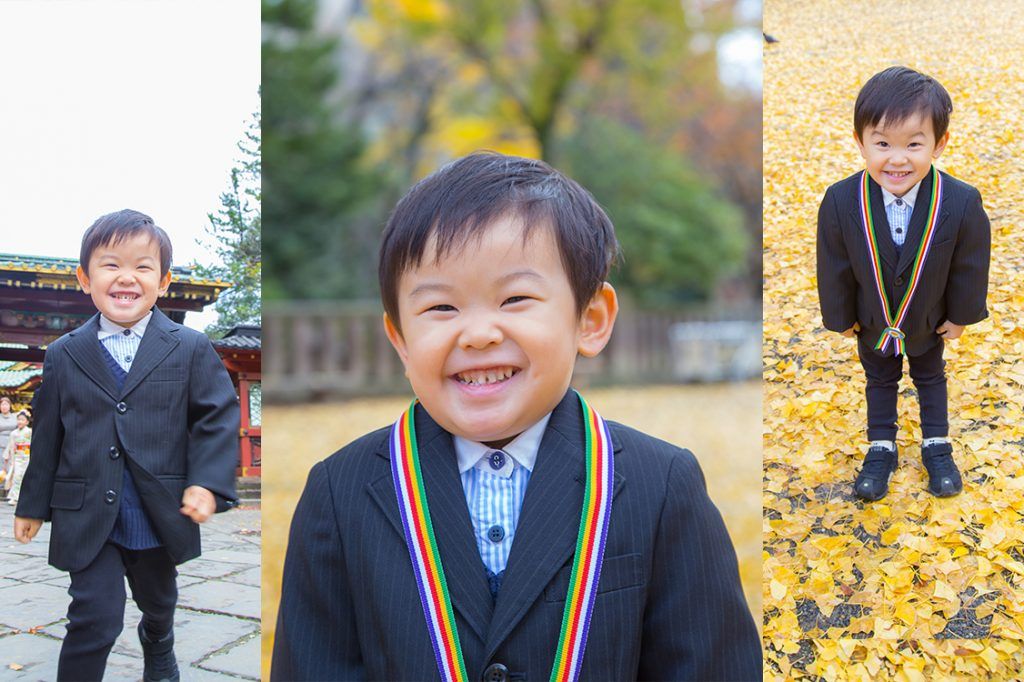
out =
[[[114,527],[128,466],[171,557],[195,558],[199,526],[178,511],[181,494],[202,485],[218,510],[237,499],[234,387],[205,335],[154,308],[119,390],[98,330],[97,313],[46,349],[16,513],[50,521],[50,563],[81,570]]]

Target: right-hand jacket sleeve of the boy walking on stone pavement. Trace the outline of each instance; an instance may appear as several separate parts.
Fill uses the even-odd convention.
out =
[[[188,379],[188,485],[202,485],[217,498],[217,511],[238,500],[239,398],[213,345],[199,338]]]

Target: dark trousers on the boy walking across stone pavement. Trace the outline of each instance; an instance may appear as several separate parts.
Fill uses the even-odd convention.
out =
[[[163,547],[128,550],[106,543],[92,563],[71,574],[68,634],[57,662],[58,682],[101,680],[106,656],[124,625],[125,577],[142,611],[142,627],[160,639],[174,627],[178,601],[174,560]]]

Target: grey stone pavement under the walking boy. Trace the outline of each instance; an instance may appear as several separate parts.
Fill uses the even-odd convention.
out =
[[[70,581],[46,563],[49,523],[28,545],[14,540],[13,525],[13,507],[0,502],[0,680],[50,681],[56,678]],[[258,680],[260,512],[216,514],[202,532],[203,556],[178,566],[174,650],[181,680]],[[139,617],[129,598],[104,680],[142,679]]]

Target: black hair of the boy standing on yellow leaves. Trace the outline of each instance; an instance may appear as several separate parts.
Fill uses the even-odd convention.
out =
[[[853,106],[853,127],[857,139],[863,141],[864,129],[882,120],[888,126],[924,114],[931,117],[938,141],[949,128],[952,112],[949,93],[937,80],[906,67],[890,67],[871,76],[860,88]]]

